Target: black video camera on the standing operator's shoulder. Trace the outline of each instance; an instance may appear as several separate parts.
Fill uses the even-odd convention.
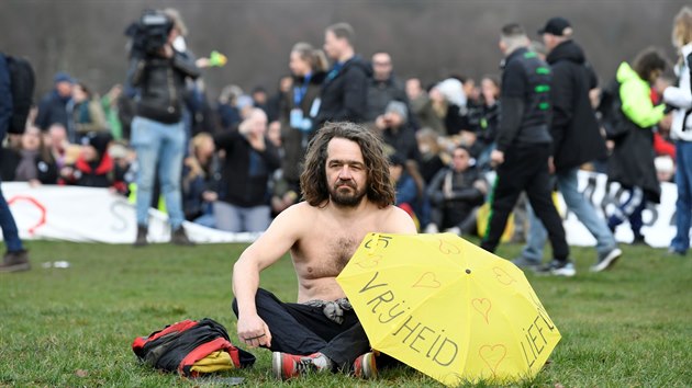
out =
[[[139,20],[125,30],[125,35],[132,38],[131,55],[142,56],[159,50],[168,42],[172,26],[172,20],[161,11],[145,10]]]

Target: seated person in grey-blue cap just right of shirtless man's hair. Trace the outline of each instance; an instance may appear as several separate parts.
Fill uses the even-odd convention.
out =
[[[415,132],[408,122],[409,109],[401,101],[391,101],[384,113],[375,119],[375,128],[380,133],[389,153],[399,153],[405,160],[420,160]]]

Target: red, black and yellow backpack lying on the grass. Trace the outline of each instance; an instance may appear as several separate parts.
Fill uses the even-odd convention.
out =
[[[210,318],[199,321],[186,319],[148,336],[137,336],[132,343],[132,350],[147,365],[178,372],[186,377],[198,377],[199,373],[191,370],[194,363],[216,351],[227,352],[236,368],[255,363],[255,356],[235,347],[226,329]]]

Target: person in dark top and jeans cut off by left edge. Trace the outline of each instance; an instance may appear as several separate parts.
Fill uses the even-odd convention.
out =
[[[33,88],[32,88],[33,93]],[[21,113],[21,112],[18,112]],[[0,141],[4,139],[10,128],[10,123],[14,116],[14,104],[12,101],[12,82],[7,56],[0,53]],[[26,117],[26,116],[24,116]],[[24,118],[24,122],[26,119]],[[0,148],[0,152],[2,149]],[[0,182],[2,183],[2,182]],[[7,247],[7,252],[2,256],[0,272],[19,272],[31,269],[29,253],[19,237],[19,230],[14,222],[14,217],[10,212],[2,189],[0,187],[0,227]]]

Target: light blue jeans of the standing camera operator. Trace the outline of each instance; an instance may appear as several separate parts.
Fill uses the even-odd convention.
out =
[[[132,121],[132,146],[137,152],[137,225],[148,224],[148,210],[158,166],[161,195],[174,229],[185,220],[180,179],[186,148],[182,122],[163,124],[136,116]]]

